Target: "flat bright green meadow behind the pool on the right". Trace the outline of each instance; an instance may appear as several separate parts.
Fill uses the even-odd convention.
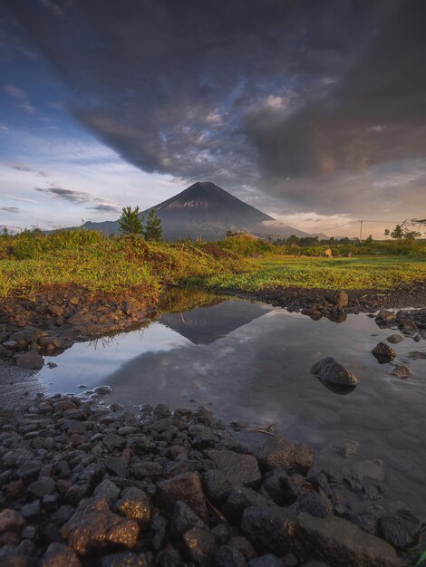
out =
[[[352,258],[266,255],[240,274],[208,276],[210,288],[256,292],[276,287],[389,289],[426,279],[426,257],[360,256]]]

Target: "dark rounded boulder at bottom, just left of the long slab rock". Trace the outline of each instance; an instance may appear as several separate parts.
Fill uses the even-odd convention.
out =
[[[294,522],[283,508],[246,508],[241,520],[241,531],[253,543],[257,553],[276,553],[282,556],[292,550]]]

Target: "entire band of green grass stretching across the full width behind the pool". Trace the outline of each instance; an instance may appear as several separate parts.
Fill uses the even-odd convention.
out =
[[[133,293],[156,301],[168,283],[253,292],[286,286],[387,289],[426,278],[426,255],[278,255],[246,236],[217,244],[107,238],[85,230],[0,236],[0,300],[69,284],[93,295]]]

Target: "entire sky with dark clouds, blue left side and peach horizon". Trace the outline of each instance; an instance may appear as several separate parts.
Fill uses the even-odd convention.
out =
[[[306,231],[426,216],[424,0],[0,0],[0,226],[211,180]]]

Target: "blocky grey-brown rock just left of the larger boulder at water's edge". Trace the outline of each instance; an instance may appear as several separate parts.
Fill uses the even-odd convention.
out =
[[[257,486],[262,480],[257,459],[253,455],[240,455],[235,451],[208,451],[216,468],[232,485]]]

